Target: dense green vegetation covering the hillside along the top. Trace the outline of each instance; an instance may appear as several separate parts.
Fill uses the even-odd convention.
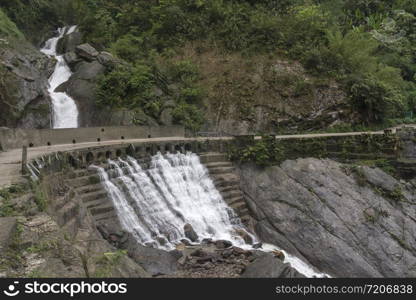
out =
[[[173,99],[174,119],[197,130],[203,123],[204,87],[197,67],[177,59],[193,42],[201,51],[211,45],[247,60],[268,55],[299,61],[311,76],[337,80],[367,125],[414,111],[412,0],[62,1],[71,6],[88,42],[129,63],[103,77],[102,105],[141,109],[158,118]],[[48,11],[56,2],[0,0],[26,27],[29,21],[18,13],[22,5],[38,5],[40,10],[31,12],[36,16],[23,14],[38,22],[45,14],[49,20],[59,14]]]

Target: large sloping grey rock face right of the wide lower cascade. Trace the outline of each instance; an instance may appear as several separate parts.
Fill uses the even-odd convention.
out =
[[[240,167],[265,242],[337,277],[416,276],[416,187],[380,169],[298,159]]]

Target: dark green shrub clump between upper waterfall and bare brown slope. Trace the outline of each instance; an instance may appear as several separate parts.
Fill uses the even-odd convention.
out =
[[[101,77],[97,103],[112,109],[143,111],[160,120],[166,105],[173,102],[173,122],[196,132],[204,123],[204,91],[195,83],[199,78],[197,66],[190,61],[172,63],[164,72],[156,64],[136,61],[133,65],[117,66]]]

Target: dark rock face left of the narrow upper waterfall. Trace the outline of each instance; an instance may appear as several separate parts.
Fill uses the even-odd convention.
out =
[[[49,128],[54,61],[26,40],[0,41],[0,126]]]

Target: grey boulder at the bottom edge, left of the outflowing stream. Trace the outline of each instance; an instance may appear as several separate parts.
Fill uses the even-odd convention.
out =
[[[290,264],[283,263],[269,253],[264,253],[249,264],[241,275],[243,278],[303,278]]]

